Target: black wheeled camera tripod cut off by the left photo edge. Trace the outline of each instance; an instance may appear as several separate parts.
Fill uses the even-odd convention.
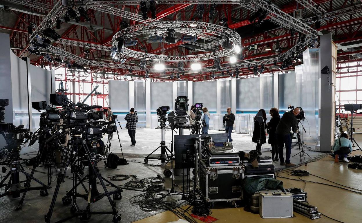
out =
[[[2,162],[2,165],[6,165],[10,167],[9,172],[7,175],[1,180],[0,187],[5,186],[5,192],[3,194],[0,194],[0,197],[4,197],[6,195],[12,195],[13,198],[20,197],[20,193],[23,192],[23,196],[28,190],[40,190],[40,196],[48,196],[47,189],[51,188],[48,185],[45,185],[40,180],[33,177],[33,175],[29,175],[29,173],[25,172],[23,164],[25,163],[24,159],[20,158],[19,152],[14,151],[17,148],[13,148],[10,151],[10,157],[8,157],[4,162]],[[6,168],[2,168],[3,173],[5,173]],[[24,174],[26,177],[26,180],[20,181],[20,173]],[[5,181],[8,179],[8,183],[4,184]],[[30,186],[31,179],[35,180],[37,183],[39,183],[41,186]],[[24,183],[24,187],[21,186],[21,183]]]

